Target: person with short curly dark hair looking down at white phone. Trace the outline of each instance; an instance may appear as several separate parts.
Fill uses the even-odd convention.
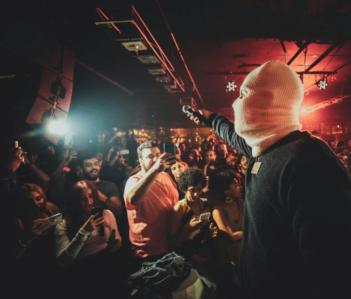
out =
[[[216,284],[210,274],[209,261],[213,252],[212,238],[218,229],[209,219],[200,220],[201,214],[209,213],[210,206],[201,198],[206,185],[202,170],[190,168],[178,179],[178,187],[184,199],[180,200],[171,214],[170,241],[175,252],[191,260],[203,282],[207,297],[215,297]]]

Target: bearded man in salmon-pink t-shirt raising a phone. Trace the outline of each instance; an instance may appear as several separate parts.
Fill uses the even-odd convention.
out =
[[[124,192],[136,265],[155,261],[169,251],[168,216],[179,196],[176,184],[164,172],[174,156],[161,155],[157,143],[146,141],[138,147],[138,158],[141,171],[128,179]]]

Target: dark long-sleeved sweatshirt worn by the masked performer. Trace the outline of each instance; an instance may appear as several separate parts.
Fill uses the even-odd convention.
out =
[[[257,158],[222,116],[215,132],[250,159],[240,282],[245,298],[350,298],[351,177],[329,146],[295,131]]]

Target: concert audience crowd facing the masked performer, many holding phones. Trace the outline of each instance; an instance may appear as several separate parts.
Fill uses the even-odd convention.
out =
[[[4,161],[3,257],[11,272],[34,274],[45,265],[56,279],[70,277],[68,286],[116,265],[104,281],[127,293],[128,275],[174,251],[198,271],[209,297],[240,297],[247,157],[216,134],[201,144],[180,143],[175,157],[158,143],[143,142],[134,147],[137,165],[120,154],[121,142],[107,143],[106,153],[76,153],[72,140],[61,141],[42,156],[19,146]],[[342,141],[328,144],[349,171],[349,148]],[[92,214],[99,206],[102,215]],[[209,219],[200,220],[207,212]],[[58,213],[63,220],[55,227],[42,221]]]

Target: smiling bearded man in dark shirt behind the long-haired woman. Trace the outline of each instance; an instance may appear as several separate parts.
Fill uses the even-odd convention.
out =
[[[84,179],[93,181],[100,191],[100,199],[106,205],[106,209],[110,210],[116,218],[121,216],[123,206],[120,191],[114,183],[100,180],[100,165],[95,155],[90,152],[80,152],[77,160],[83,168]]]

